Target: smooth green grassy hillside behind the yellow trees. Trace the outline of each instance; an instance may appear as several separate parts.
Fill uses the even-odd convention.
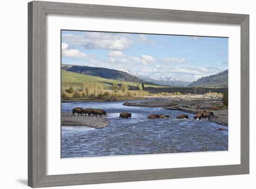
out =
[[[118,84],[121,84],[121,81],[118,81],[118,80],[106,79],[106,78],[97,77],[97,76],[88,76],[88,75],[77,74],[77,73],[66,71],[66,70],[61,70],[62,89],[67,89],[70,86],[74,87],[75,89],[81,88],[84,82],[99,82],[104,86],[105,90],[112,90],[113,82],[117,82]],[[139,84],[137,82],[125,82],[125,83],[127,83],[127,85],[131,88],[136,87],[137,84]],[[144,84],[144,86],[154,87],[154,88],[166,87],[166,86],[154,85],[154,84]]]

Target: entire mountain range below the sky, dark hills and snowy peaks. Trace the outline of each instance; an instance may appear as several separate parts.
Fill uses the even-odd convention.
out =
[[[62,64],[62,69],[90,76],[100,76],[107,79],[115,79],[126,82],[148,82],[158,85],[178,86],[178,87],[228,87],[228,70],[221,73],[205,76],[197,81],[178,78],[175,76],[141,76],[127,68],[108,69],[90,66]]]

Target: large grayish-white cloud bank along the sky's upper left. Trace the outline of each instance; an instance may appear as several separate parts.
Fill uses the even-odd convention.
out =
[[[133,40],[129,34],[107,32],[85,32],[82,35],[62,35],[63,41],[80,45],[86,49],[125,50]]]

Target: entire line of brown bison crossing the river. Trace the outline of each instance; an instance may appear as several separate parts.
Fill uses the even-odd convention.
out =
[[[72,109],[72,115],[75,115],[75,113],[78,113],[78,115],[85,115],[87,116],[96,116],[98,117],[98,115],[100,115],[100,117],[103,117],[103,115],[106,115],[106,111],[102,110],[102,109],[93,109],[93,108],[85,108],[83,109],[82,107],[75,107]],[[195,114],[194,116],[194,120],[201,120],[201,119],[206,119],[206,118],[210,118],[211,116],[213,116],[213,112],[210,111],[199,111],[197,114]],[[119,115],[119,118],[131,118],[132,114],[128,113],[128,112],[122,112]],[[163,114],[151,114],[148,115],[148,119],[158,119],[158,118],[169,118],[169,115],[163,115]],[[189,116],[185,115],[185,114],[181,114],[178,115],[176,117],[177,119],[188,119]]]

